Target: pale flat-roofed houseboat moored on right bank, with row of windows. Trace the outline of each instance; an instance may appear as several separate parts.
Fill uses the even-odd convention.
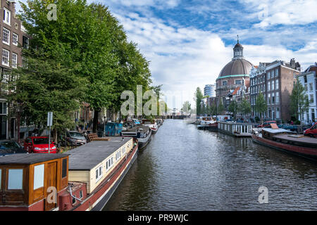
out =
[[[252,125],[237,122],[218,122],[218,131],[236,137],[251,137]]]

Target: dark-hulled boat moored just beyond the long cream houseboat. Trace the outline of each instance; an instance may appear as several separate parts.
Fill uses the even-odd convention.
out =
[[[136,127],[130,127],[125,131],[121,131],[121,136],[130,136],[137,139],[139,149],[144,149],[149,141],[151,141],[151,129],[147,126],[138,125]]]

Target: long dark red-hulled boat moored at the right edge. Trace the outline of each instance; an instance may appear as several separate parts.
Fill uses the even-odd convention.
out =
[[[274,128],[274,129],[273,129]],[[276,127],[252,132],[252,141],[263,146],[317,161],[317,139]]]

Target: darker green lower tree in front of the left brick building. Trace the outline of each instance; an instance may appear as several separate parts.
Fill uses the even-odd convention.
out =
[[[22,117],[27,125],[32,122],[46,127],[47,113],[53,112],[54,139],[58,131],[73,128],[71,113],[79,107],[78,100],[86,86],[85,81],[75,75],[72,68],[66,68],[55,60],[46,58],[44,53],[35,51],[36,58],[27,57],[27,67],[13,70],[8,101],[22,105]]]

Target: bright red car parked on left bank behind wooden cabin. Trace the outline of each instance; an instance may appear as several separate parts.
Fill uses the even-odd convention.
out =
[[[47,136],[27,137],[23,146],[28,153],[56,153],[54,142],[49,145],[49,137]]]

